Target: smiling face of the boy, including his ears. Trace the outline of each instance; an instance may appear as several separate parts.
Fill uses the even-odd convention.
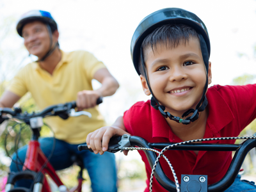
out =
[[[206,82],[204,60],[197,38],[189,38],[186,45],[181,43],[172,49],[158,44],[153,52],[148,47],[145,50],[145,64],[152,92],[167,111],[184,113],[196,107]],[[140,77],[145,94],[150,95],[145,77]],[[211,77],[209,62],[209,84]]]

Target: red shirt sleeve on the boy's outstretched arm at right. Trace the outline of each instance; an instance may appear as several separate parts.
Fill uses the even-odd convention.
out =
[[[256,118],[256,84],[218,86],[218,92],[237,118],[240,131]]]

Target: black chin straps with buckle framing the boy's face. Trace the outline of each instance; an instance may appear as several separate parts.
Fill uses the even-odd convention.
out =
[[[157,101],[156,97],[154,97],[153,92],[152,92],[152,90],[150,88],[147,72],[146,72],[146,69],[145,69],[145,62],[144,62],[144,58],[143,58],[143,49],[142,49],[142,47],[140,48],[140,58],[141,58],[142,66],[143,66],[143,72],[145,74],[145,79],[146,79],[147,84],[148,84],[148,89],[149,89],[149,91],[150,91],[150,93],[152,95],[152,98],[150,100],[151,106],[154,109],[159,110],[161,115],[163,115],[165,118],[170,118],[170,120],[174,120],[175,122],[182,123],[184,125],[188,125],[191,122],[195,122],[195,120],[197,120],[198,117],[199,117],[199,112],[204,111],[204,109],[206,108],[206,106],[208,104],[208,101],[207,101],[207,98],[205,96],[205,93],[207,92],[207,88],[208,88],[209,54],[208,54],[207,45],[205,43],[205,40],[204,40],[203,36],[200,35],[200,34],[198,34],[198,36],[199,36],[199,40],[200,40],[200,47],[201,47],[201,51],[202,51],[202,57],[203,57],[204,64],[205,64],[206,82],[205,82],[202,98],[200,99],[200,101],[196,105],[196,108],[195,109],[188,109],[188,111],[183,113],[182,118],[184,116],[188,116],[190,113],[193,113],[193,115],[188,116],[186,119],[179,118],[179,116],[173,116],[168,111],[164,112],[165,107],[161,106],[159,104],[159,102]]]

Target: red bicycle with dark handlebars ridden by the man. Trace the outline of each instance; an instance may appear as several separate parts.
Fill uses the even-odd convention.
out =
[[[97,99],[97,104],[102,102],[102,97]],[[60,178],[56,174],[54,168],[49,163],[49,159],[54,152],[54,145],[52,146],[52,152],[49,157],[45,157],[44,153],[40,149],[40,143],[38,142],[38,138],[40,137],[40,129],[44,125],[43,118],[48,116],[60,116],[60,118],[66,120],[70,116],[80,116],[86,115],[92,117],[91,113],[87,111],[79,111],[76,112],[76,102],[67,102],[65,104],[58,104],[49,106],[48,108],[43,109],[39,113],[22,113],[20,108],[15,108],[14,110],[11,108],[0,108],[0,120],[8,119],[17,119],[22,120],[25,124],[29,125],[32,131],[31,140],[28,144],[28,150],[26,154],[26,159],[23,164],[22,171],[20,172],[10,172],[8,174],[8,180],[6,182],[5,191],[6,192],[51,192],[51,188],[49,186],[49,182],[45,178],[45,174],[49,175],[53,182],[58,186],[59,190],[68,191],[63,182],[61,182]],[[3,115],[5,114],[5,115]],[[7,115],[11,115],[7,116]],[[1,123],[0,122],[0,123]],[[71,157],[74,162],[80,167],[79,175],[77,177],[78,184],[75,188],[70,189],[70,192],[81,192],[82,182],[83,182],[83,161],[79,159],[77,156]],[[17,156],[17,160],[19,157]],[[20,164],[19,161],[15,162]],[[20,179],[31,179],[33,183],[31,184],[31,188],[15,188],[15,182]]]

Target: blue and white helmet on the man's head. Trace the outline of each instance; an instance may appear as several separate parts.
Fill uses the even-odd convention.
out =
[[[52,18],[51,13],[41,11],[41,10],[33,10],[27,13],[24,13],[20,17],[19,22],[17,23],[17,26],[16,26],[17,32],[19,33],[20,36],[22,36],[22,28],[24,27],[24,25],[34,20],[40,20],[45,24],[48,24],[52,32],[58,29],[57,24],[55,20]]]

